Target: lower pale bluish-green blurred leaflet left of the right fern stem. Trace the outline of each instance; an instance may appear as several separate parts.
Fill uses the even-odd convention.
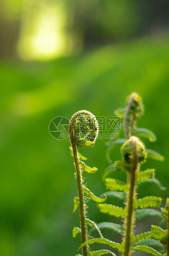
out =
[[[124,228],[122,225],[112,222],[101,222],[97,224],[97,227],[100,229],[112,230],[113,232],[116,232],[118,234],[122,234],[124,232]],[[89,233],[93,232],[94,230],[95,227],[91,228],[89,230]]]

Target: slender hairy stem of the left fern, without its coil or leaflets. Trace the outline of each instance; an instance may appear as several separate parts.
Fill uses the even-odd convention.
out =
[[[69,129],[71,127],[69,126]],[[81,175],[81,168],[79,166],[78,162],[78,152],[77,152],[77,147],[76,147],[76,141],[74,139],[73,133],[71,130],[69,130],[69,135],[70,135],[70,142],[72,146],[72,151],[73,151],[73,156],[74,156],[74,165],[76,168],[76,179],[77,179],[77,189],[78,189],[78,195],[79,195],[79,212],[80,212],[80,225],[81,225],[81,243],[83,244],[84,242],[87,241],[87,233],[86,233],[86,222],[85,222],[85,204],[84,204],[84,194],[83,194],[83,188],[82,188],[82,175]],[[87,245],[84,245],[82,247],[82,255],[87,256]]]

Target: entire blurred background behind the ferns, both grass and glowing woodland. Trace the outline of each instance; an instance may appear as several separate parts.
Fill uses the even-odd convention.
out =
[[[72,238],[79,213],[72,213],[77,188],[70,143],[55,140],[49,123],[56,116],[70,119],[81,109],[113,116],[137,91],[146,109],[138,126],[158,138],[144,140],[146,147],[165,156],[163,163],[148,159],[142,170],[156,168],[156,178],[167,187],[141,186],[138,196],[161,196],[164,206],[169,197],[169,1],[0,0],[0,6],[0,255],[74,256],[80,236]],[[85,173],[97,196],[105,192],[105,142],[80,149],[86,164],[98,168]],[[113,160],[120,158],[119,148]],[[100,213],[93,201],[88,206],[91,220],[121,223]],[[144,219],[136,233],[159,221]]]

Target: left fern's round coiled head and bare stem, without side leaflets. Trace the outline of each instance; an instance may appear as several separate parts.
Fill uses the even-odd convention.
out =
[[[76,180],[79,195],[79,212],[81,225],[81,243],[87,240],[86,234],[86,209],[84,203],[83,179],[81,174],[81,166],[79,164],[79,156],[77,147],[92,147],[98,135],[98,123],[90,112],[81,110],[76,112],[69,123],[69,137],[74,157],[74,165],[76,169]],[[87,256],[87,246],[82,247],[82,255]]]

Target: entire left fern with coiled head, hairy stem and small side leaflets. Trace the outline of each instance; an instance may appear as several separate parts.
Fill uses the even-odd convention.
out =
[[[109,250],[99,250],[99,251],[89,251],[88,247],[88,231],[86,224],[95,226],[97,231],[100,234],[101,239],[104,239],[100,229],[97,227],[96,223],[92,220],[86,218],[86,204],[84,193],[86,193],[91,199],[97,202],[105,201],[106,197],[99,198],[96,197],[87,187],[83,185],[83,177],[82,172],[86,171],[88,173],[95,173],[97,171],[96,167],[90,168],[87,166],[82,160],[86,160],[86,157],[82,156],[77,147],[93,147],[95,144],[97,135],[98,135],[99,126],[95,116],[86,110],[81,110],[76,112],[69,123],[69,137],[70,137],[70,151],[71,155],[74,157],[74,165],[76,169],[75,177],[77,180],[77,188],[78,188],[78,197],[74,198],[74,211],[77,209],[79,205],[80,212],[80,228],[74,227],[73,229],[73,237],[76,236],[77,233],[81,233],[81,244],[82,247],[82,256],[100,256],[102,254],[110,253],[113,254]],[[80,247],[81,248],[81,247]],[[80,249],[79,248],[79,249]],[[79,255],[79,254],[78,254]]]

